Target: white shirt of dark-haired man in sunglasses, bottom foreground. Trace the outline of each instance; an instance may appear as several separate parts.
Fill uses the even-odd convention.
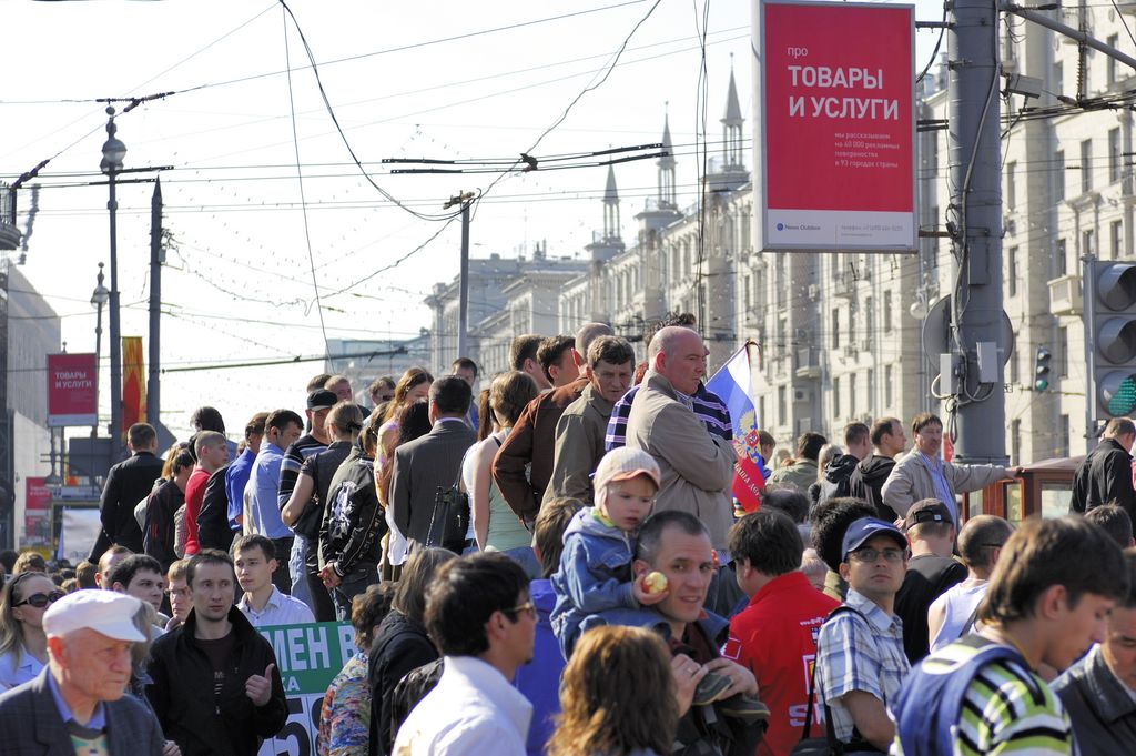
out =
[[[446,656],[442,679],[410,712],[395,756],[525,756],[533,705],[496,667]]]

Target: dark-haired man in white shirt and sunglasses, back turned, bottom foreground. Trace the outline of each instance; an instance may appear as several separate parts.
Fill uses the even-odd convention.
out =
[[[536,634],[525,571],[493,551],[451,559],[426,595],[426,629],[445,655],[442,679],[402,723],[394,753],[524,756],[533,705],[511,681]]]

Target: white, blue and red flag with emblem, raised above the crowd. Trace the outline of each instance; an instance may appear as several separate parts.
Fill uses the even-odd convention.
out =
[[[750,346],[746,342],[707,381],[707,389],[721,397],[729,408],[734,445],[745,452],[734,463],[733,493],[746,512],[758,508],[766,487],[761,474],[765,460],[758,446],[758,410],[750,398]]]

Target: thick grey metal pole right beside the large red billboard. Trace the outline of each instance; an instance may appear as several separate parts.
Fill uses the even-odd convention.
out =
[[[958,408],[955,458],[1006,464],[1002,366],[1002,171],[997,6],[955,0],[949,30],[949,155],[953,251],[952,376],[939,379]],[[946,391],[957,385],[955,391]]]

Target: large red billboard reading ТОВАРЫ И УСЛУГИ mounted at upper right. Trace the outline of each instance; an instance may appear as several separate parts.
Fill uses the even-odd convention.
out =
[[[759,249],[914,251],[914,6],[759,15]]]

